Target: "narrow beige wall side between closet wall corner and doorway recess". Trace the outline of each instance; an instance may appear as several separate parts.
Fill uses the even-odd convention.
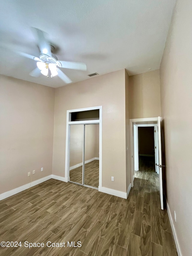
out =
[[[126,141],[126,191],[131,183],[130,131],[129,131],[129,76],[125,70],[125,141]]]

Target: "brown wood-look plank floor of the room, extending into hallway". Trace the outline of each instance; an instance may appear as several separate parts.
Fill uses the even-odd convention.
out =
[[[158,176],[144,160],[136,176],[127,200],[50,179],[0,201],[0,240],[22,242],[0,247],[0,255],[177,255],[167,211],[160,209]],[[25,241],[45,246],[29,249]],[[82,246],[47,247],[47,241]]]

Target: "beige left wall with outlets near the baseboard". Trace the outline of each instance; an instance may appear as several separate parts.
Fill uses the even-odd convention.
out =
[[[53,88],[3,75],[0,89],[1,194],[29,183],[29,171],[32,181],[52,173],[55,93]]]

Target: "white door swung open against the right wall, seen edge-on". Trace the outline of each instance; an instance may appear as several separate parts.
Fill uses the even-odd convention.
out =
[[[161,200],[161,209],[163,210],[163,179],[162,179],[162,157],[161,157],[161,117],[158,116],[158,155],[159,155],[159,193]]]

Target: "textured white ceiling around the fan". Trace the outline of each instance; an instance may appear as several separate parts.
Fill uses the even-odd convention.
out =
[[[73,82],[126,68],[129,75],[158,69],[175,0],[6,0],[0,3],[0,43],[39,56],[30,27],[48,34],[58,59],[87,64],[62,69]],[[51,87],[58,77],[29,76],[36,62],[0,46],[0,74]],[[91,78],[89,78],[91,79]]]

